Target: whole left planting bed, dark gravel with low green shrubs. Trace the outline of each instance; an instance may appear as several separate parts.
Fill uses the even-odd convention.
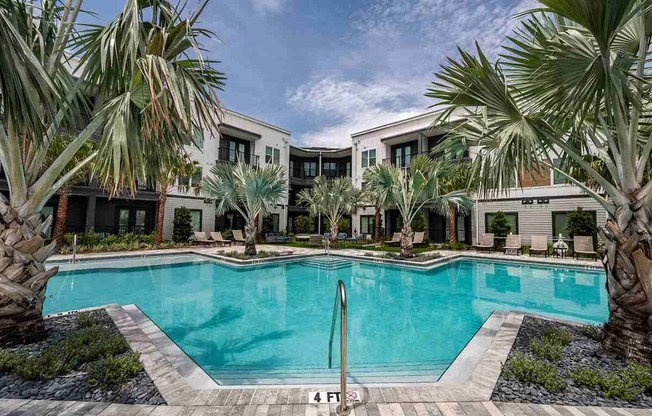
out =
[[[165,404],[104,310],[45,320],[47,337],[0,345],[0,397]]]

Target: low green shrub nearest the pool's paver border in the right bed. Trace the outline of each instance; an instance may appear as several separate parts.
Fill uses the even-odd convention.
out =
[[[517,354],[508,359],[503,374],[525,383],[539,384],[549,392],[566,390],[566,381],[554,366],[523,354]]]

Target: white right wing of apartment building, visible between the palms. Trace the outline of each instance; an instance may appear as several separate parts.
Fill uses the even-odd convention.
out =
[[[444,137],[443,131],[430,128],[436,117],[436,112],[428,112],[352,134],[355,186],[363,186],[363,173],[369,166],[387,163],[409,167],[414,155],[430,154]],[[475,151],[470,149],[463,156],[472,158]],[[530,243],[533,234],[546,234],[551,239],[565,234],[568,213],[577,207],[591,212],[598,224],[606,221],[607,213],[597,202],[551,170],[515,172],[514,184],[514,188],[491,197],[478,197],[470,215],[458,216],[457,240],[476,242],[479,234],[489,232],[497,211],[505,213],[512,232],[521,234],[524,244]],[[360,232],[373,233],[374,213],[373,207],[363,207],[353,216]],[[447,219],[427,208],[423,214],[427,238],[436,243],[448,241],[451,230]],[[397,211],[384,210],[382,217],[386,235],[399,231]]]

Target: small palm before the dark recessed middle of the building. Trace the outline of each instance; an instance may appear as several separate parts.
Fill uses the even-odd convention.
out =
[[[355,212],[362,199],[362,192],[356,189],[349,178],[315,178],[312,189],[304,189],[297,195],[299,204],[305,205],[310,215],[321,214],[328,221],[330,241],[337,244],[339,222],[345,215]]]

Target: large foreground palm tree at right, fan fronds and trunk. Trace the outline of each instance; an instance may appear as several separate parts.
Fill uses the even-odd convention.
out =
[[[652,2],[540,3],[500,61],[479,46],[476,55],[460,51],[428,95],[446,106],[438,124],[452,123],[449,144],[480,149],[473,176],[485,192],[514,172],[547,168],[604,207],[603,345],[652,358]]]

